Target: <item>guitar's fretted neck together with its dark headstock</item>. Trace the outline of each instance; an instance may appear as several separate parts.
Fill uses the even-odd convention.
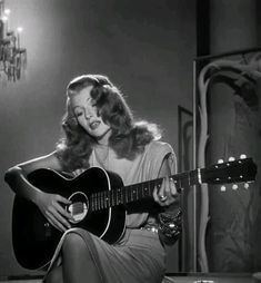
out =
[[[257,165],[252,158],[241,158],[225,163],[218,163],[208,168],[198,168],[194,170],[175,174],[171,177],[180,193],[183,187],[199,184],[231,184],[231,183],[251,183],[255,179]],[[99,211],[112,206],[137,202],[152,196],[154,188],[160,188],[163,178],[147,180],[143,183],[94,193],[90,198],[90,208]]]

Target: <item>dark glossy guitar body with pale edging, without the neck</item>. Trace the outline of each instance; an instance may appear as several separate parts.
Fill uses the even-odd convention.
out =
[[[68,179],[51,169],[32,172],[28,179],[46,193],[60,194],[72,204],[84,204],[83,212],[76,216],[72,227],[81,227],[108,243],[117,242],[124,232],[123,205],[93,211],[90,195],[121,187],[121,178],[111,172],[92,167],[80,176]],[[70,207],[66,207],[70,211]],[[16,196],[12,212],[12,243],[19,264],[37,270],[48,265],[62,233],[48,223],[40,209],[30,201]]]

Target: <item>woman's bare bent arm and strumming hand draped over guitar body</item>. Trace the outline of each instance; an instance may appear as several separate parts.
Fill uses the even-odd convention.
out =
[[[66,231],[70,227],[68,218],[71,218],[71,215],[59,203],[69,204],[70,202],[60,195],[44,193],[28,180],[28,174],[39,168],[51,168],[59,172],[62,166],[56,153],[51,153],[9,168],[4,180],[17,195],[33,202],[53,226]]]

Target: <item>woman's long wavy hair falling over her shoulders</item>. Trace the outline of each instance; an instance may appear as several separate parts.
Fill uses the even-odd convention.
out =
[[[67,170],[90,167],[89,157],[97,140],[77,121],[71,109],[70,97],[88,86],[98,115],[111,127],[109,146],[119,158],[133,159],[144,146],[159,139],[154,124],[134,121],[131,109],[121,91],[102,75],[83,75],[71,80],[67,87],[67,110],[62,119],[63,137],[57,145],[57,155]]]

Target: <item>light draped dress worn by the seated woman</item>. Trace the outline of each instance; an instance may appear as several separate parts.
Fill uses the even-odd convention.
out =
[[[94,152],[91,166],[103,167],[117,173],[124,185],[157,178],[163,159],[168,157],[171,174],[175,173],[175,156],[171,146],[162,142],[151,142],[134,160],[118,159],[110,150],[108,160],[100,164]],[[79,174],[81,172],[78,172]],[[86,243],[103,283],[160,283],[165,271],[165,251],[155,232],[140,228],[154,219],[148,213],[127,214],[126,232],[116,244],[108,244],[98,236],[81,228],[68,230],[53,255],[49,271],[61,264],[59,256],[64,236],[77,233]],[[48,272],[49,272],[48,271]],[[48,273],[47,273],[48,274]],[[88,280],[87,280],[88,282]]]

